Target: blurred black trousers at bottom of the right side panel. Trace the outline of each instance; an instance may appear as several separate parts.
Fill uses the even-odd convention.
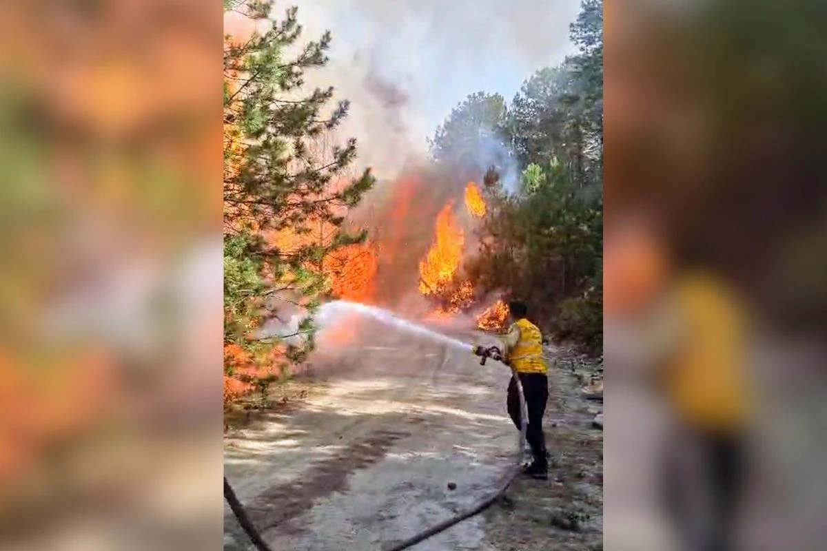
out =
[[[682,548],[731,551],[746,467],[743,436],[684,428],[676,432],[673,444],[667,453],[665,489]],[[679,454],[690,454],[691,461]]]

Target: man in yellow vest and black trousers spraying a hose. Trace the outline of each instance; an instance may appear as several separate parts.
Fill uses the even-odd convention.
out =
[[[548,401],[547,364],[543,358],[543,336],[537,325],[528,321],[528,307],[519,301],[509,302],[509,332],[504,336],[501,352],[502,362],[509,365],[519,378],[523,387],[528,425],[526,440],[531,447],[533,461],[524,469],[528,476],[539,480],[548,478],[548,456],[546,438],[543,435],[543,414]],[[479,356],[489,354],[485,347],[477,347],[474,353]],[[512,377],[509,382],[506,404],[511,420],[520,430],[522,427],[522,408],[520,407],[517,380]]]

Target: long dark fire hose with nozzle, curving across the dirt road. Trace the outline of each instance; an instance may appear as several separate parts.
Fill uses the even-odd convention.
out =
[[[496,361],[503,361],[503,354],[499,348],[496,346],[490,346],[488,348],[483,346],[477,346],[474,348],[473,353],[476,356],[480,356],[480,365],[485,365],[485,362],[490,358]],[[508,365],[506,363],[506,365]],[[516,382],[517,393],[519,395],[519,404],[520,404],[520,432],[519,432],[519,449],[518,449],[518,458],[522,458],[523,449],[525,447],[525,435],[526,435],[526,428],[528,426],[528,410],[525,404],[525,395],[523,394],[523,385],[519,380],[517,372],[514,371],[514,368],[509,366],[511,369],[511,376],[514,378],[514,382]],[[503,481],[500,483],[497,491],[492,493],[490,496],[486,497],[483,501],[480,501],[476,506],[472,507],[467,511],[462,511],[457,515],[452,516],[451,518],[442,521],[438,525],[432,526],[428,530],[424,530],[419,534],[414,535],[409,539],[405,539],[404,541],[398,542],[393,544],[392,546],[385,549],[385,551],[403,551],[404,549],[409,549],[416,544],[423,542],[424,540],[433,537],[436,534],[444,532],[445,530],[451,528],[454,525],[459,524],[462,520],[466,520],[471,518],[472,516],[479,515],[482,511],[485,511],[488,507],[494,505],[497,501],[505,495],[505,492],[508,492],[511,483],[514,482],[514,479],[520,473],[520,463],[518,460],[518,464],[508,473],[506,477],[504,477]],[[238,501],[235,492],[232,491],[232,487],[230,483],[227,482],[227,477],[224,477],[224,498],[227,500],[227,503],[230,505],[230,509],[232,510],[233,515],[236,516],[239,524],[241,525],[241,529],[247,534],[247,536],[251,539],[252,544],[258,549],[259,551],[271,551],[270,547],[265,543],[264,539],[261,538],[261,534],[259,534],[256,527],[252,525],[250,519],[246,515],[246,511],[244,511],[244,507],[241,506],[241,503]]]

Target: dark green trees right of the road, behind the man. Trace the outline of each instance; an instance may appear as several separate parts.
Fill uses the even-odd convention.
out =
[[[508,106],[490,110],[495,116],[485,128],[475,129],[482,119],[469,108],[490,105],[477,94],[433,140],[471,144],[463,136],[493,127],[510,145],[523,171],[521,188],[507,194],[496,175],[486,176],[490,208],[480,254],[466,272],[476,288],[525,300],[545,329],[592,351],[602,345],[603,330],[602,10],[600,0],[584,0],[571,25],[576,55],[528,78]],[[432,145],[434,151],[453,150]]]

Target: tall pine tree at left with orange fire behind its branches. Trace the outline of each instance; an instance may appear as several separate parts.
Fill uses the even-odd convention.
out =
[[[339,102],[327,112],[332,88],[301,90],[304,72],[327,63],[330,33],[291,58],[289,47],[301,33],[297,9],[271,21],[272,7],[235,2],[234,11],[254,21],[256,31],[228,37],[224,47],[224,340],[282,371],[312,347],[311,326],[299,328],[308,335],[302,347],[254,342],[250,330],[261,324],[265,297],[289,290],[313,311],[330,287],[324,260],[365,238],[342,231],[342,209],[356,205],[373,178],[368,171],[343,178],[356,158],[355,140],[327,153],[313,147],[348,110]],[[324,239],[306,239],[320,227]],[[226,375],[237,368],[225,365]]]

